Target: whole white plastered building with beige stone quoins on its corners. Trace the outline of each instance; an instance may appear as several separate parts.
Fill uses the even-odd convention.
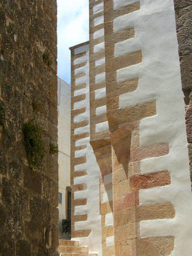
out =
[[[103,256],[189,256],[192,195],[174,2],[89,6],[90,40],[70,48],[72,237]]]

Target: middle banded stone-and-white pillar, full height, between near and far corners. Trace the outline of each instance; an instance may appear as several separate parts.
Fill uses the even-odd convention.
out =
[[[112,213],[111,143],[106,117],[105,32],[103,0],[90,7],[90,142],[101,171],[100,213],[102,218],[102,255],[114,255]]]

